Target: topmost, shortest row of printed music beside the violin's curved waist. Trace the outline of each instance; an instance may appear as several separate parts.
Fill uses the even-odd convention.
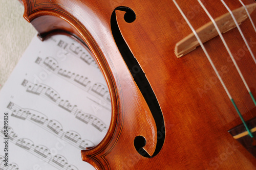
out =
[[[94,61],[91,54],[83,48],[80,44],[65,42],[63,40],[59,40],[58,46],[66,50],[67,52],[71,52],[76,57],[80,58],[84,63],[87,63],[88,65],[92,65],[96,68],[98,68],[97,63]]]

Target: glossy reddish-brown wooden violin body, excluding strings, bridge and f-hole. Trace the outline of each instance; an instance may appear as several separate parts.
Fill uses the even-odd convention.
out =
[[[243,0],[247,4],[253,0]],[[202,48],[177,59],[175,44],[191,33],[172,1],[79,1],[23,0],[24,17],[41,37],[71,33],[88,44],[109,85],[112,120],[100,144],[82,151],[82,159],[97,169],[256,169],[256,159],[227,132],[241,124],[221,83]],[[241,7],[226,1],[231,10]],[[210,19],[197,1],[178,1],[195,29]],[[220,1],[205,1],[216,18],[227,12]],[[160,153],[145,158],[137,153],[133,141],[146,138],[145,150],[153,154],[157,132],[155,121],[142,94],[127,69],[112,36],[110,18],[116,7],[133,9],[137,18],[123,20],[117,11],[118,26],[132,53],[150,82],[165,122],[165,142]],[[252,14],[256,22],[256,11]],[[256,55],[256,33],[246,19],[245,37]],[[223,34],[241,71],[256,96],[256,65],[235,28]],[[205,47],[221,72],[245,120],[256,116],[238,72],[230,62],[219,37]],[[80,160],[77,160],[80,161]]]

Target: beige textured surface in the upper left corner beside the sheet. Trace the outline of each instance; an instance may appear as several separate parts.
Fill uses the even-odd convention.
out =
[[[17,0],[0,0],[0,89],[36,34]]]

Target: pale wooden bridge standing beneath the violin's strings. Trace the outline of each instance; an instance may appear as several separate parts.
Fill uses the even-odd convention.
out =
[[[249,14],[251,14],[252,11],[256,8],[256,3],[246,5],[246,8]],[[233,10],[232,13],[236,18],[237,22],[239,23],[239,25],[248,17],[244,7],[240,7],[236,10]],[[215,19],[215,21],[222,33],[225,33],[233,28],[236,28],[236,23],[234,23],[229,12],[219,16]],[[218,32],[211,21],[197,29],[196,32],[203,43],[218,35]],[[187,53],[195,50],[196,47],[199,45],[200,44],[197,41],[197,38],[195,37],[194,33],[191,33],[176,43],[174,52],[177,58],[180,58],[186,55]]]

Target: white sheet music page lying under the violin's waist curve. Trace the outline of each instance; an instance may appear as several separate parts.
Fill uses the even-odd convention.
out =
[[[72,38],[36,36],[0,91],[0,169],[94,169],[111,120],[108,87],[90,51]],[[5,166],[8,165],[8,166]]]

